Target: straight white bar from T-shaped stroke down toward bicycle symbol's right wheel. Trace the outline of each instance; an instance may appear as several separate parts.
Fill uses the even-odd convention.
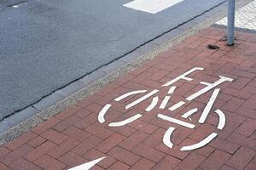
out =
[[[207,116],[209,114],[209,112],[211,111],[212,109],[212,105],[214,103],[214,101],[216,100],[217,96],[218,96],[218,93],[219,93],[219,88],[216,88],[213,93],[212,93],[212,96],[211,98],[209,99],[208,103],[207,103],[207,106],[205,107],[204,111],[202,112],[201,116],[200,116],[200,119],[199,119],[199,123],[204,123],[207,119]]]

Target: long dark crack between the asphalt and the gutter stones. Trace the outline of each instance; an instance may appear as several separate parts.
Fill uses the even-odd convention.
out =
[[[25,2],[25,1],[23,1],[22,3],[24,3],[24,2]],[[213,8],[217,8],[218,6],[220,6],[220,5],[222,5],[223,3],[226,3],[226,2],[227,2],[227,0],[225,0],[225,1],[222,2],[222,3],[218,3],[217,5],[213,6],[212,8],[207,9],[206,11],[202,12],[201,14],[195,15],[193,18],[191,18],[191,19],[189,19],[189,20],[187,20],[187,21],[185,21],[185,22],[183,22],[183,23],[181,23],[181,24],[179,24],[179,25],[177,25],[177,26],[171,28],[171,29],[168,30],[168,31],[164,31],[164,32],[161,33],[160,35],[158,35],[158,36],[156,36],[156,37],[154,37],[154,38],[148,40],[147,42],[143,42],[142,44],[138,45],[136,48],[133,48],[131,51],[129,51],[129,52],[125,53],[125,54],[122,54],[121,56],[117,57],[116,59],[113,59],[113,60],[109,61],[108,63],[106,63],[106,64],[104,64],[104,65],[98,66],[95,70],[86,73],[86,74],[85,74],[84,76],[82,76],[82,77],[79,77],[79,78],[74,79],[72,82],[67,83],[66,85],[62,86],[61,88],[66,88],[68,85],[72,84],[73,82],[77,82],[77,81],[80,80],[81,78],[90,75],[90,74],[93,73],[94,71],[98,71],[98,70],[101,69],[102,67],[104,67],[104,66],[106,66],[106,65],[109,65],[109,64],[113,63],[114,61],[125,57],[125,55],[127,55],[127,54],[131,54],[132,52],[136,51],[137,48],[143,47],[143,46],[146,45],[148,42],[152,42],[152,41],[154,41],[156,38],[161,37],[161,36],[164,36],[166,33],[177,29],[179,26],[183,26],[184,24],[188,23],[189,21],[196,19],[197,17],[201,16],[202,14],[206,14],[207,12],[211,11]],[[84,85],[86,85],[86,84],[84,84]],[[8,118],[9,116],[15,115],[15,113],[17,113],[17,112],[19,112],[19,111],[25,110],[26,108],[28,108],[28,107],[30,107],[30,106],[32,106],[33,109],[35,109],[36,111],[38,111],[38,109],[35,108],[33,105],[37,104],[38,102],[40,102],[42,99],[48,97],[49,95],[54,94],[56,91],[60,90],[61,88],[56,88],[54,91],[50,92],[49,94],[44,95],[43,97],[41,97],[41,98],[38,99],[37,101],[33,102],[32,104],[26,105],[25,107],[23,107],[23,108],[21,108],[21,109],[19,109],[19,110],[13,111],[12,113],[10,113],[10,114],[7,115],[7,116],[3,116],[3,118],[0,119],[0,122],[3,121],[4,119]]]

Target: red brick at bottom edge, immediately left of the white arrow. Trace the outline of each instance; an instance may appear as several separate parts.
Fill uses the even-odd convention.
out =
[[[43,169],[51,169],[51,170],[62,170],[66,167],[65,164],[61,163],[50,156],[42,156],[37,161],[34,161],[38,167],[42,167]]]

